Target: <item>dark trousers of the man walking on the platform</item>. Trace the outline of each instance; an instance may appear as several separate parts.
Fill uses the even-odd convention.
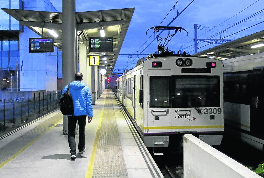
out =
[[[69,147],[71,148],[70,153],[76,154],[76,143],[75,143],[75,128],[76,122],[78,120],[79,125],[79,143],[78,149],[82,150],[85,145],[85,124],[86,124],[86,115],[84,116],[68,116],[68,142]]]

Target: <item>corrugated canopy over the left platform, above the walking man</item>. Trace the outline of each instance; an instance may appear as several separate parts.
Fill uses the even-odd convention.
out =
[[[19,25],[24,25],[43,37],[53,37],[48,30],[52,29],[59,37],[54,38],[55,46],[62,49],[62,13],[32,11],[23,9],[2,10],[19,21]],[[128,26],[130,24],[135,8],[112,9],[89,12],[76,12],[77,33],[79,42],[89,41],[91,37],[100,37],[100,29],[105,30],[105,37],[114,38],[114,52],[91,53],[100,55],[100,67],[108,66],[108,73],[111,74],[117,57],[120,53]],[[89,43],[87,43],[89,45]],[[89,55],[89,46],[87,46]],[[104,63],[107,57],[107,63]]]

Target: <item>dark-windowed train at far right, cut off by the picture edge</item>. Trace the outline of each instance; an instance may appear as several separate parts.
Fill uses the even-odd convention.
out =
[[[225,131],[264,151],[264,53],[222,62]]]

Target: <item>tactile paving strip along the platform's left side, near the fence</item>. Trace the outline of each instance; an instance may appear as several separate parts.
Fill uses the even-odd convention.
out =
[[[30,131],[21,135],[17,139],[13,140],[9,144],[0,148],[0,169],[10,160],[15,158],[21,152],[23,152],[28,146],[30,146],[34,141],[40,138],[42,134],[48,131],[50,128],[55,126],[58,121],[62,119],[62,114],[59,113]]]

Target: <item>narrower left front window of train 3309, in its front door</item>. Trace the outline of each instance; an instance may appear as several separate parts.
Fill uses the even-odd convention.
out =
[[[171,107],[171,76],[150,76],[150,108]]]

